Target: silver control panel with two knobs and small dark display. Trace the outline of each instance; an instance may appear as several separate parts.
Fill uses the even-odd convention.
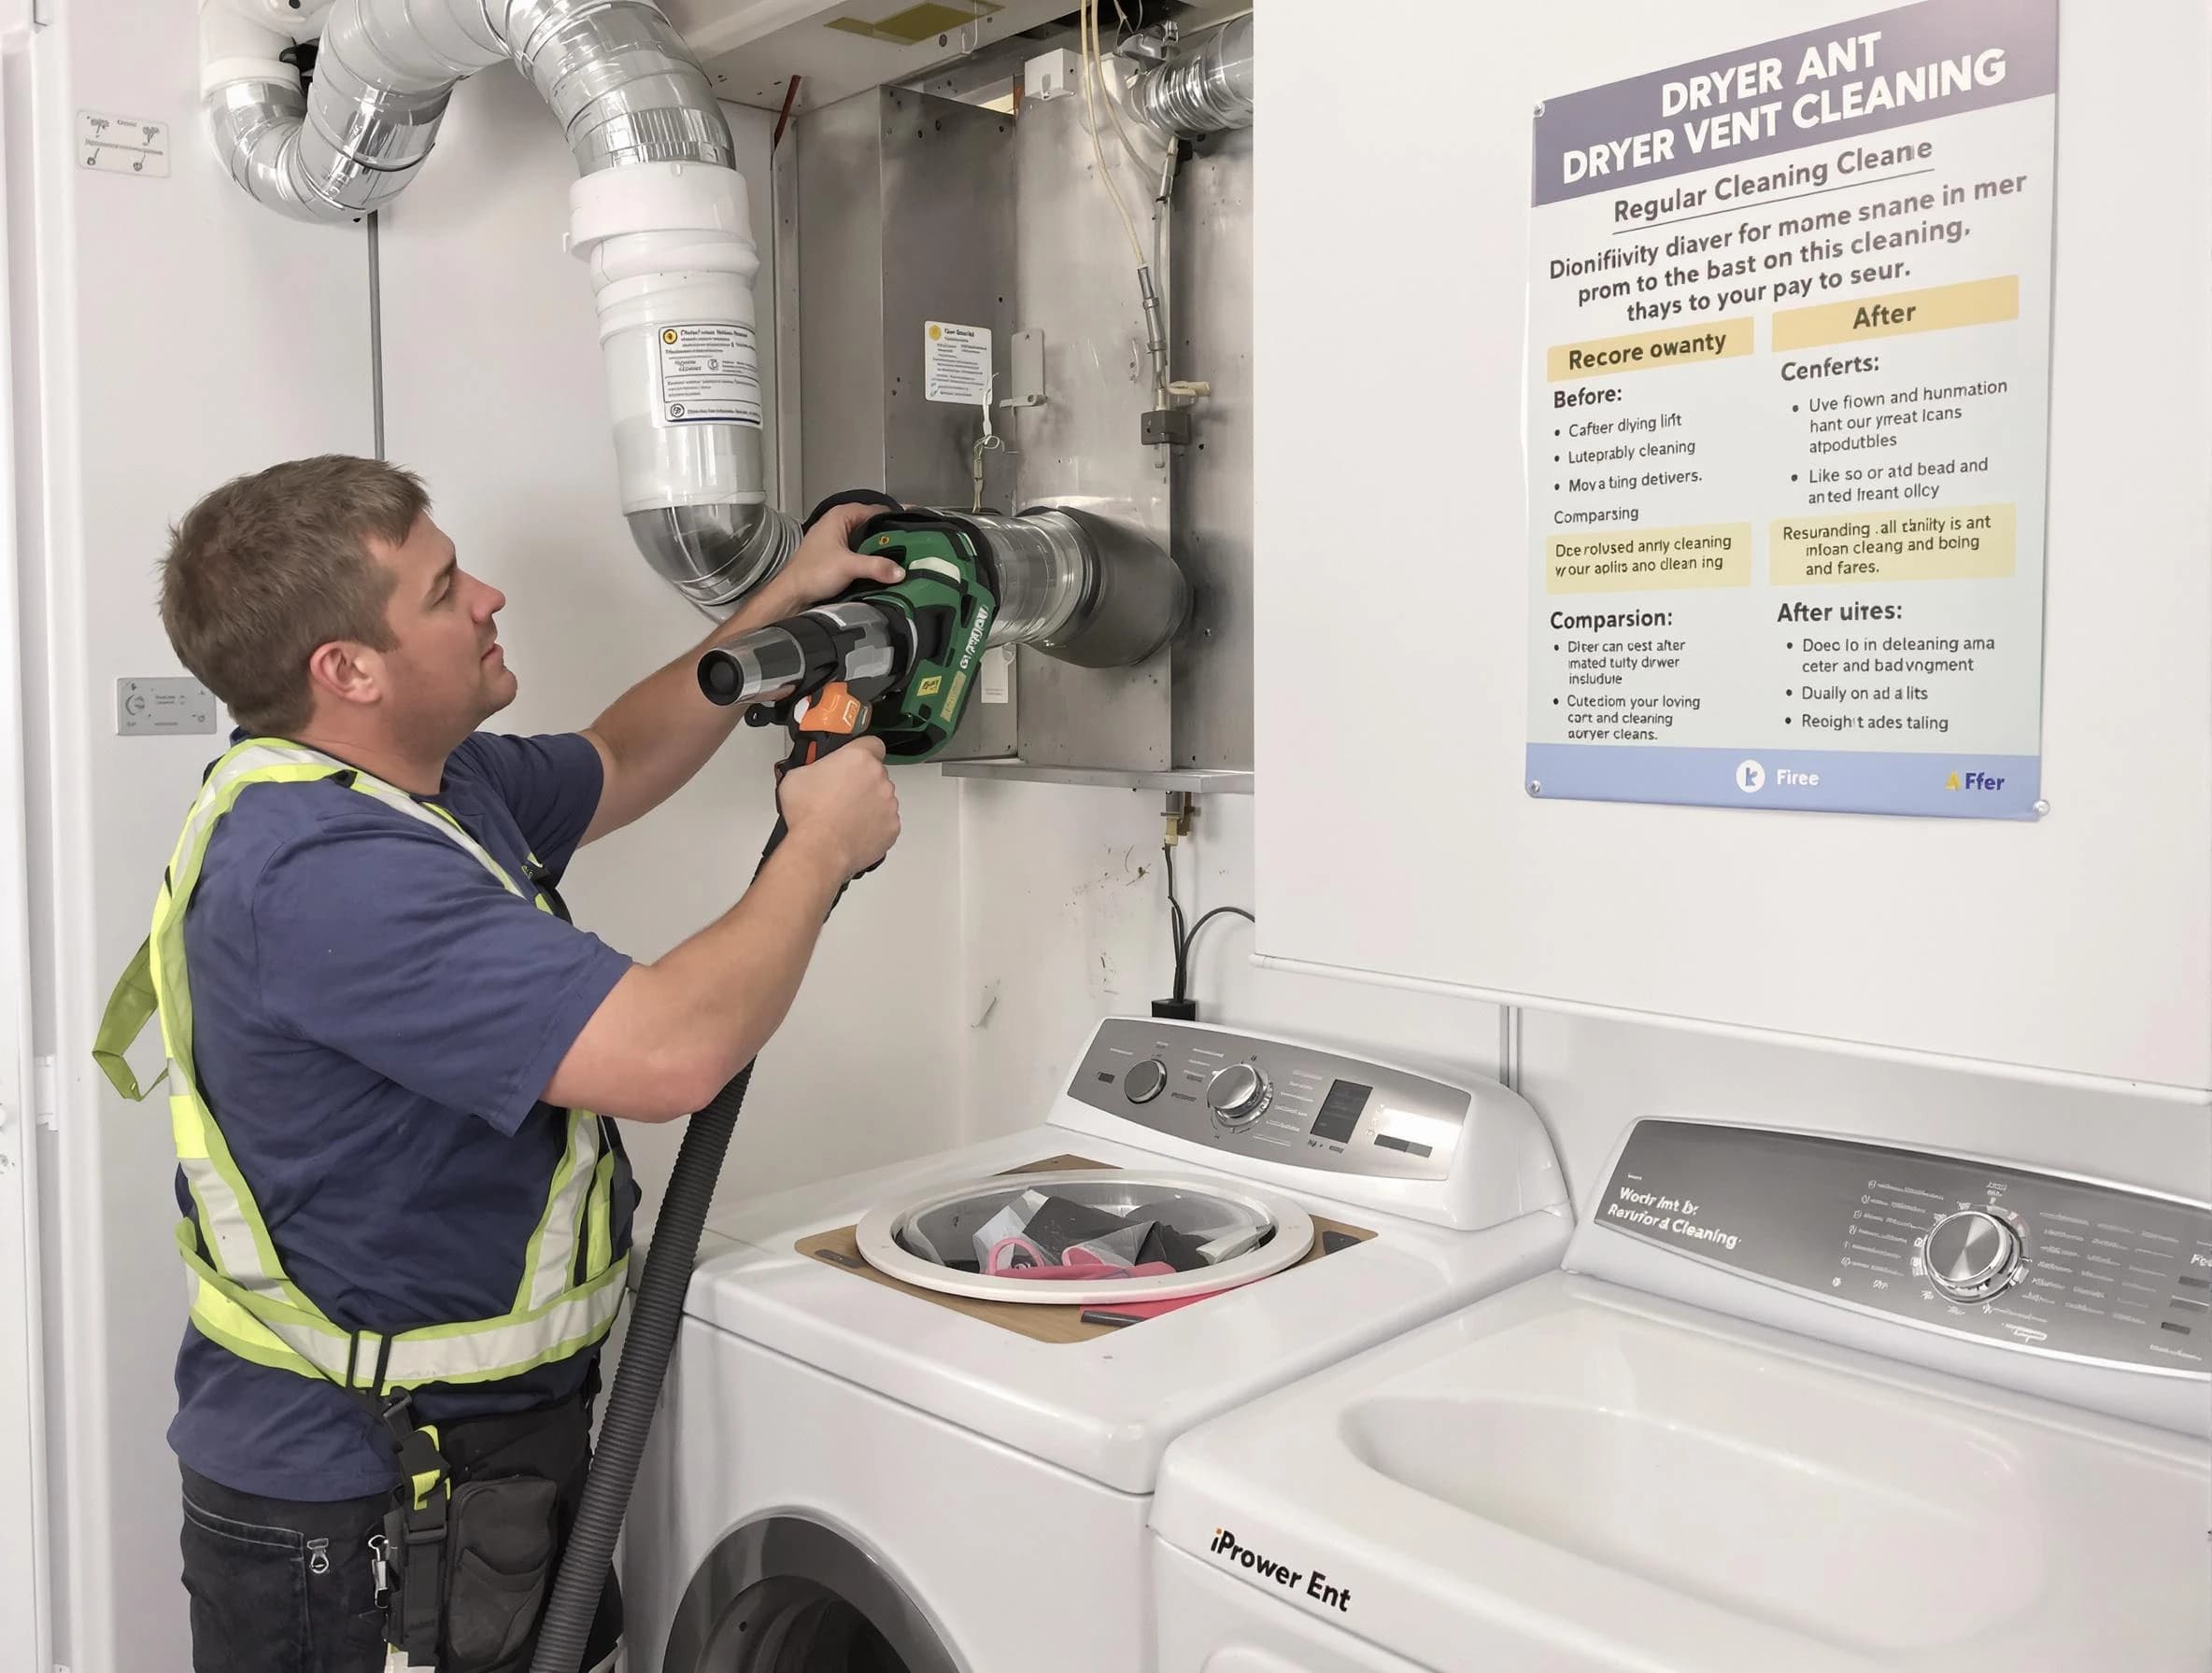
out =
[[[1190,1023],[1099,1025],[1068,1096],[1161,1134],[1332,1174],[1442,1180],[1464,1087]]]

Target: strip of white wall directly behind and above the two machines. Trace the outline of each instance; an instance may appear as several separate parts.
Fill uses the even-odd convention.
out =
[[[1159,798],[962,780],[962,829],[969,1083],[978,1132],[1004,1132],[1057,1090],[1091,1021],[1144,1014],[1168,992]],[[1347,853],[1336,873],[1358,897],[1389,864]],[[1177,871],[1192,922],[1210,906],[1250,906],[1250,798],[1199,798]],[[1208,1021],[1498,1072],[1500,1012],[1486,1003],[1254,968],[1234,919],[1199,946],[1192,995]],[[1551,1127],[1577,1207],[1628,1125],[1650,1114],[1825,1127],[2212,1198],[2212,1120],[2163,1098],[1537,1010],[1520,1012],[1520,1087]]]

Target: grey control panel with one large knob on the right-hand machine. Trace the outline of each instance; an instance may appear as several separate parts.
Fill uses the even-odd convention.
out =
[[[1962,1156],[1641,1120],[1595,1224],[2046,1355],[2212,1375],[2212,1207]]]

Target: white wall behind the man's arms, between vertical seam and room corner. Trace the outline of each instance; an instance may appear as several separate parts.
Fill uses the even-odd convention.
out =
[[[774,119],[723,113],[752,188],[754,294],[772,354]],[[427,477],[462,564],[509,597],[502,639],[522,696],[493,723],[509,732],[588,725],[708,630],[637,555],[617,511],[591,281],[562,252],[573,179],[544,104],[493,69],[453,93],[438,152],[380,228],[385,451]],[[779,740],[741,732],[675,802],[586,849],[564,886],[577,922],[653,959],[721,915],[776,818]],[[726,1193],[874,1167],[956,1127],[956,983],[933,975],[931,950],[949,972],[958,798],[933,771],[902,774],[900,798],[907,833],[894,860],[845,895],[761,1056]],[[650,1211],[681,1129],[628,1136]]]

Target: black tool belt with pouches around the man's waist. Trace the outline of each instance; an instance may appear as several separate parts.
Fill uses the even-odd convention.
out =
[[[407,1666],[526,1673],[591,1467],[591,1390],[442,1428],[418,1423],[400,1395],[376,1419],[400,1461],[385,1532],[369,1540],[385,1642]],[[584,1664],[606,1660],[619,1635],[608,1576]]]

